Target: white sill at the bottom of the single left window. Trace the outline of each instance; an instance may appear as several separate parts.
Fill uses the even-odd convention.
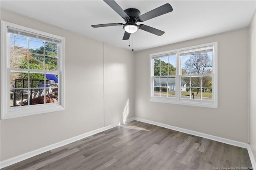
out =
[[[46,104],[47,105],[47,104]],[[50,113],[50,112],[56,112],[56,111],[63,111],[64,107],[58,104],[49,104],[49,105],[34,105],[30,107],[13,107],[8,109],[8,111],[5,114],[1,115],[1,119],[11,119],[16,117],[24,117],[24,116],[30,116],[30,115],[38,115],[42,113]]]

